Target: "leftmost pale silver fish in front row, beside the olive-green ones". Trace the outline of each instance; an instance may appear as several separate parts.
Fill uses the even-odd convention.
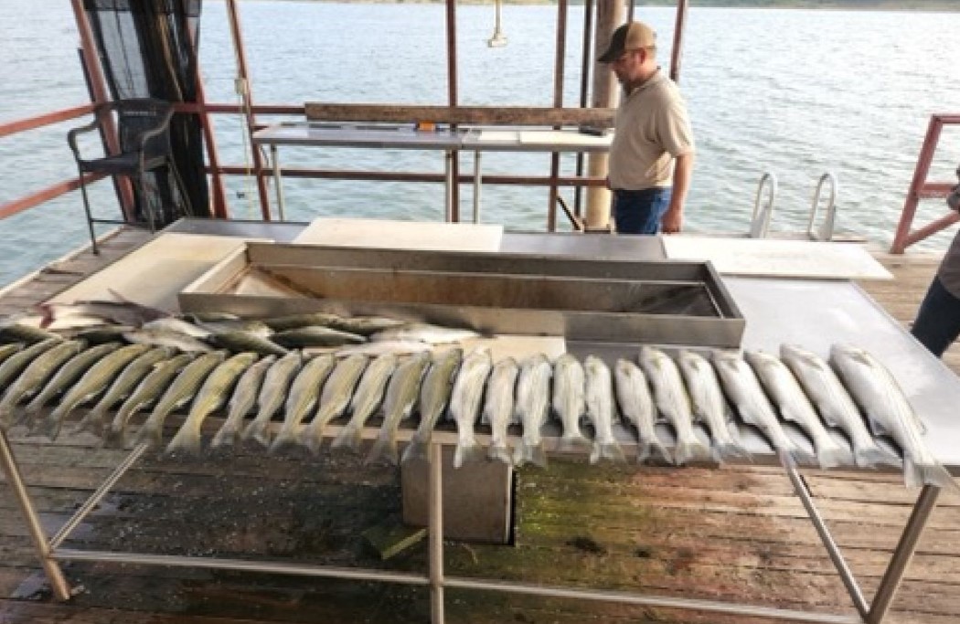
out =
[[[457,423],[457,448],[453,453],[453,467],[477,461],[483,449],[477,444],[473,425],[480,411],[484,384],[493,367],[490,351],[470,351],[460,366],[450,394],[450,417]]]

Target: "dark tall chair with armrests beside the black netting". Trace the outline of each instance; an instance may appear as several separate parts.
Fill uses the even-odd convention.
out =
[[[116,115],[116,126],[120,144],[119,154],[99,158],[84,159],[80,154],[77,139],[84,132],[101,129],[103,113],[109,111]],[[90,203],[84,184],[84,173],[103,173],[108,176],[126,176],[139,190],[139,201],[143,212],[147,216],[150,231],[156,231],[154,211],[147,201],[144,186],[144,174],[161,167],[167,167],[176,180],[180,197],[189,208],[189,199],[185,193],[183,180],[174,163],[170,149],[170,120],[174,115],[173,105],[163,100],[140,98],[131,100],[117,100],[97,107],[96,119],[80,128],[67,132],[67,143],[77,160],[80,170],[80,188],[84,196],[84,210],[86,222],[90,229],[90,244],[94,253],[97,249],[96,234],[93,231],[94,223],[127,223],[109,219],[94,219],[90,211]]]

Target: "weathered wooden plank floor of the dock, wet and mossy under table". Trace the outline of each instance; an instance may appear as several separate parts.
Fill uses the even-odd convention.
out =
[[[41,271],[0,298],[23,309],[146,237],[121,230],[89,253]],[[896,279],[862,286],[908,324],[936,256],[884,256]],[[945,362],[960,370],[960,348]],[[57,443],[13,436],[14,451],[48,530],[59,527],[123,457],[91,437]],[[879,583],[917,492],[897,474],[804,470],[834,538],[868,596]],[[839,578],[777,468],[586,467],[551,462],[517,471],[516,545],[448,544],[449,575],[640,590],[664,596],[852,613]],[[361,534],[399,515],[396,471],[352,456],[268,457],[259,450],[180,462],[148,456],[66,545],[206,556],[274,557],[422,572],[425,544],[388,562]],[[197,568],[67,564],[82,586],[54,601],[26,528],[0,482],[0,623],[79,624],[429,619],[425,588]],[[960,500],[945,493],[889,621],[960,619]],[[773,620],[602,602],[447,590],[448,622],[669,622],[771,624]]]

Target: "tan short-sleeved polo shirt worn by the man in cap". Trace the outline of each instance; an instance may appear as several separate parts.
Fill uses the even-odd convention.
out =
[[[610,148],[610,185],[638,191],[673,185],[673,158],[694,151],[680,89],[658,69],[626,95],[616,110]]]

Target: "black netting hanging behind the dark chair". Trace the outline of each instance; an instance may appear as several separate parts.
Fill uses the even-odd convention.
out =
[[[201,7],[202,0],[84,0],[114,100],[196,102]],[[144,180],[146,197],[136,190],[135,218],[140,221],[146,220],[147,206],[154,207],[158,225],[185,215],[209,216],[203,129],[197,115],[174,115],[170,145],[188,202],[180,197],[170,172],[150,172]]]

